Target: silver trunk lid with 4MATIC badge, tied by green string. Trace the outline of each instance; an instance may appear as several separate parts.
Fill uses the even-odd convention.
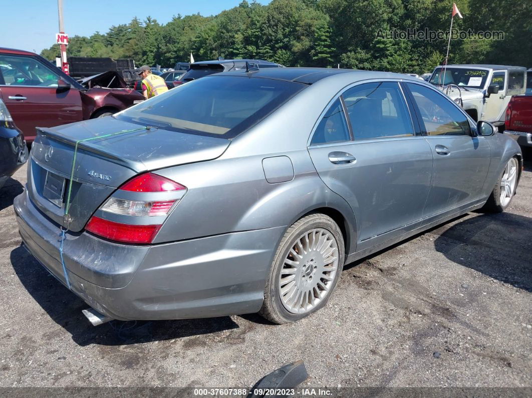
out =
[[[115,134],[118,132],[122,133]],[[44,214],[74,232],[81,231],[104,200],[131,177],[215,159],[230,143],[228,139],[146,129],[111,117],[38,128],[37,133],[28,171],[29,196]],[[91,140],[82,141],[86,139]],[[66,225],[63,216],[71,174],[71,222]]]

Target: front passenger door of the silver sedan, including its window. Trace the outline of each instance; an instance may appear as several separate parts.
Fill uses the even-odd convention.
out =
[[[481,199],[489,168],[486,137],[477,136],[468,116],[440,91],[417,83],[405,86],[434,157],[423,218],[471,206]]]

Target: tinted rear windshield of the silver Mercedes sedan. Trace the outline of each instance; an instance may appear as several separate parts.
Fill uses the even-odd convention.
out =
[[[234,138],[305,87],[281,80],[217,75],[173,88],[116,117],[168,130]]]

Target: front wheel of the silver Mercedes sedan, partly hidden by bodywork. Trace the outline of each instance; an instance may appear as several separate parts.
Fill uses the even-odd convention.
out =
[[[504,166],[504,170],[482,209],[489,213],[502,213],[506,210],[516,194],[518,176],[519,161],[516,157],[512,157]]]

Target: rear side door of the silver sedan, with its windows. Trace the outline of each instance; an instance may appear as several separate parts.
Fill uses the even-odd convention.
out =
[[[309,152],[321,179],[351,206],[358,250],[421,221],[433,157],[398,82],[344,91],[322,116]]]

